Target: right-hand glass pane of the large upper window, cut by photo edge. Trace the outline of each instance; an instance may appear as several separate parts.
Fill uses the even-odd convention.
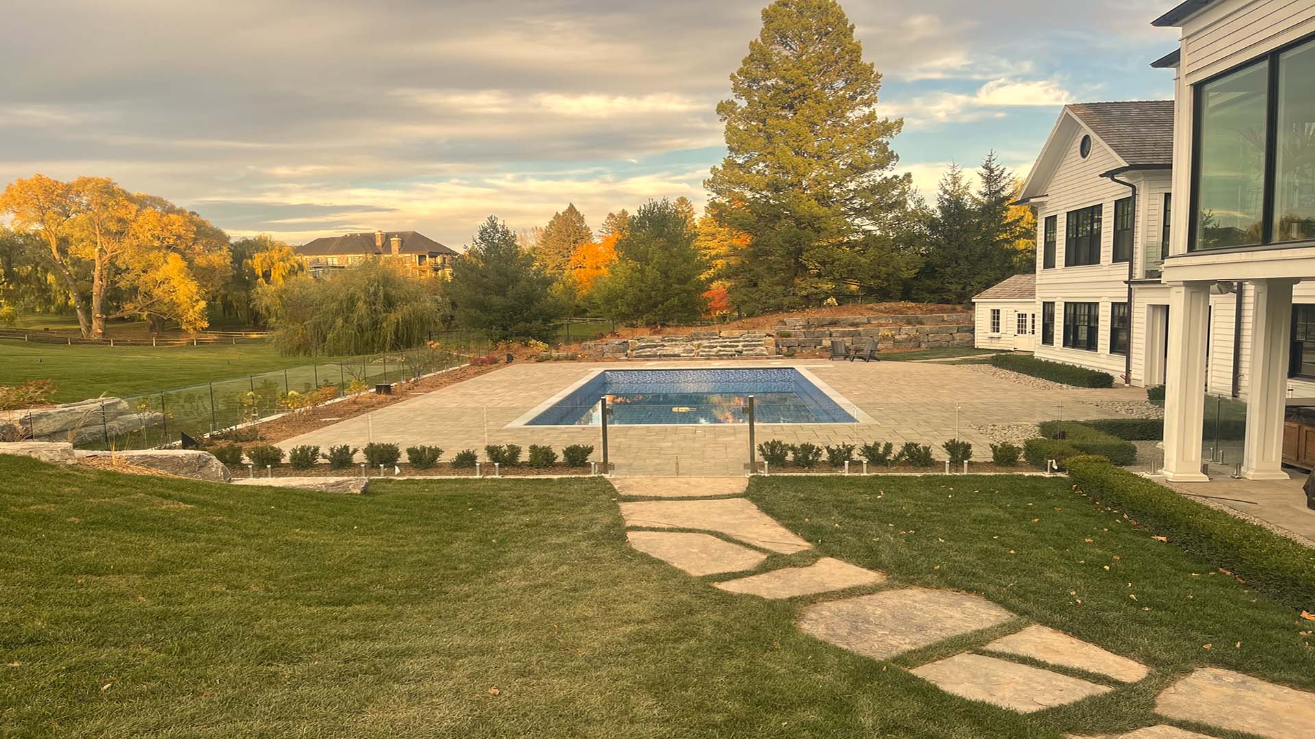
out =
[[[1278,57],[1273,241],[1315,238],[1315,43]]]

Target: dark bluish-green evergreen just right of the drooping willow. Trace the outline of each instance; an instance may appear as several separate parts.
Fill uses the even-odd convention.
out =
[[[550,341],[563,309],[552,284],[534,255],[519,247],[515,233],[489,216],[454,262],[447,296],[458,323],[494,341]]]

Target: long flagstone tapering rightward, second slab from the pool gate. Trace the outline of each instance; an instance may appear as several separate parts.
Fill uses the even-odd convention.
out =
[[[773,552],[794,554],[809,548],[807,542],[744,498],[622,502],[621,517],[633,527],[719,531]]]

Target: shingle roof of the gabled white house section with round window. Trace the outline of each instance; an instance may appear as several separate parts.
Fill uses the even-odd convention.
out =
[[[1128,166],[1173,163],[1173,100],[1074,103],[1068,109]]]

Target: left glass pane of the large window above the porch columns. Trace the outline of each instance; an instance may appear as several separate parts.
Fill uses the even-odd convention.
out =
[[[1197,249],[1264,238],[1268,91],[1268,62],[1197,89]]]

